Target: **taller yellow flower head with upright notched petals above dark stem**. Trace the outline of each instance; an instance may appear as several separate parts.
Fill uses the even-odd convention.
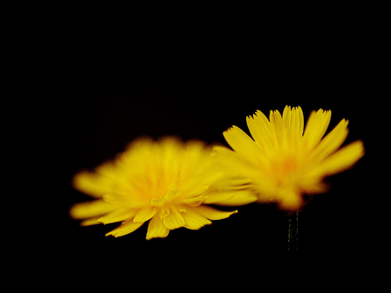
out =
[[[348,120],[342,119],[322,139],[330,118],[330,110],[312,111],[303,134],[300,107],[286,106],[282,116],[270,111],[270,121],[258,110],[247,117],[254,140],[233,126],[223,135],[234,151],[215,147],[216,160],[231,169],[232,176],[249,178],[258,202],[275,202],[282,210],[299,211],[304,194],[326,192],[326,176],[352,167],[364,155],[361,140],[339,149],[348,135]]]

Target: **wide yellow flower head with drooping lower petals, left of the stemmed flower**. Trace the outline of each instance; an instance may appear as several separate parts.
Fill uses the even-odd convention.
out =
[[[180,227],[197,230],[212,224],[210,220],[228,218],[237,211],[219,211],[205,204],[224,200],[246,204],[249,199],[241,199],[241,193],[232,189],[235,186],[218,187],[223,174],[214,167],[211,151],[199,141],[136,140],[115,161],[74,177],[74,187],[95,200],[75,204],[70,215],[84,220],[82,226],[122,222],[106,234],[115,237],[149,220],[148,240],[166,237]]]

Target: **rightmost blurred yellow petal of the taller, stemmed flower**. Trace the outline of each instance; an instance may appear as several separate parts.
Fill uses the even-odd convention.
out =
[[[352,167],[364,153],[364,144],[356,140],[319,163],[308,175],[324,177],[337,174]]]

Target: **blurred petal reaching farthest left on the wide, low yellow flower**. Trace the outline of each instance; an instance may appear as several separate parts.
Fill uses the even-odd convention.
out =
[[[97,199],[95,201],[86,201],[74,204],[71,207],[69,214],[72,218],[81,220],[104,215],[116,208],[118,208],[116,204],[109,204],[101,199]]]

